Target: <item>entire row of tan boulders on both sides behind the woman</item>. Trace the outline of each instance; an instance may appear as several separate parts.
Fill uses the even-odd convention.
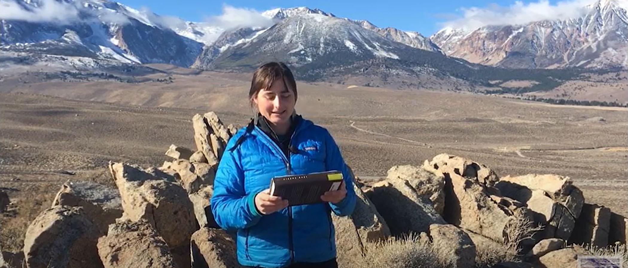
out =
[[[171,145],[162,167],[109,163],[117,188],[64,183],[0,267],[239,267],[210,210],[236,127],[213,112],[193,127],[196,150]],[[499,177],[443,153],[377,182],[356,178],[355,192],[354,214],[332,215],[341,267],[578,267],[601,249],[626,262],[626,218],[585,202],[568,177]]]

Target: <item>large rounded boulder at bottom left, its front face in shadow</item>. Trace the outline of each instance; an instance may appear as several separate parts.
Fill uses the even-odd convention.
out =
[[[29,268],[102,267],[96,247],[99,236],[82,207],[52,207],[26,229],[24,260]]]

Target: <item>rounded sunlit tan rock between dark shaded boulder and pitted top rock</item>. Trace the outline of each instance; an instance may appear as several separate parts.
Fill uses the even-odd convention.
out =
[[[436,212],[443,215],[445,209],[445,177],[440,173],[428,172],[421,167],[412,165],[401,165],[390,168],[387,172],[388,179],[408,180],[416,193],[421,197],[428,198]]]

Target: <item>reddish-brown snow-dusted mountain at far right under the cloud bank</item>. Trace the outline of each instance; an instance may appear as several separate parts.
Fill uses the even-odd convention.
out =
[[[598,0],[580,18],[445,28],[431,36],[448,56],[507,68],[628,68],[627,0]]]

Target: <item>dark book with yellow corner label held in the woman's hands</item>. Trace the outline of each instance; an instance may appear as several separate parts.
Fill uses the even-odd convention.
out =
[[[288,200],[290,206],[322,203],[320,197],[327,191],[338,190],[342,179],[338,170],[273,177],[271,195]]]

